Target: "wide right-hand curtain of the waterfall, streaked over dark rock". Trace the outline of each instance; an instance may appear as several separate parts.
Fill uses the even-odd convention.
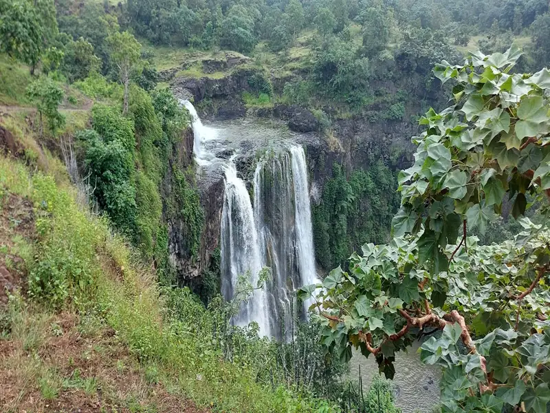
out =
[[[263,266],[272,268],[267,285],[270,333],[287,338],[296,309],[294,290],[317,282],[307,167],[302,147],[265,156],[254,173],[254,219]]]

